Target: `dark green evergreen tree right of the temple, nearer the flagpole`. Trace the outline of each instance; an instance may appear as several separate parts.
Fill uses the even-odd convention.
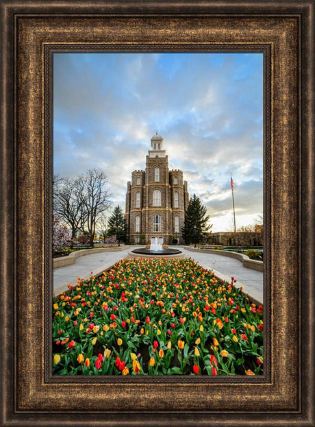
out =
[[[199,197],[194,194],[187,206],[185,223],[181,230],[187,245],[190,243],[197,244],[203,240],[205,234],[212,228],[208,221],[207,208],[201,204]]]

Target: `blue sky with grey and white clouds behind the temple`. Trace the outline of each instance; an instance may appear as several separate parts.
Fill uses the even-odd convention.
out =
[[[125,210],[155,134],[207,206],[212,232],[262,214],[262,53],[54,53],[53,173],[100,167]]]

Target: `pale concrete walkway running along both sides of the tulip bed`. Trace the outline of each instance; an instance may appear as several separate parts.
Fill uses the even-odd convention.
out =
[[[67,284],[75,286],[77,278],[88,278],[91,271],[94,275],[112,267],[121,258],[125,258],[137,246],[122,248],[119,252],[101,252],[98,254],[84,255],[75,259],[72,265],[53,269],[53,293],[59,295],[66,291]],[[251,300],[263,304],[263,273],[244,267],[242,261],[219,254],[205,254],[203,252],[190,252],[189,249],[178,247],[187,258],[192,258],[201,267],[213,270],[214,274],[227,282],[234,277],[236,286],[242,286],[243,292],[251,296]]]

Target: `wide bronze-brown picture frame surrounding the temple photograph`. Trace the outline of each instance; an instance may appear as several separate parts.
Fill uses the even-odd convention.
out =
[[[9,0],[1,8],[1,425],[314,426],[314,2]],[[66,133],[53,121],[54,66],[96,54],[262,56],[261,375],[53,374],[53,141]],[[62,75],[69,64],[58,66]],[[66,86],[64,94],[75,114]],[[158,132],[151,148],[160,156]],[[153,221],[155,234],[160,227]]]

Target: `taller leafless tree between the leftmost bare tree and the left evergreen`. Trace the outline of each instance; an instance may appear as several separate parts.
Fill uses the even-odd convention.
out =
[[[90,234],[90,245],[93,245],[95,228],[100,215],[110,207],[108,188],[105,186],[108,177],[101,169],[89,169],[75,180],[77,197],[86,212],[84,224]]]

